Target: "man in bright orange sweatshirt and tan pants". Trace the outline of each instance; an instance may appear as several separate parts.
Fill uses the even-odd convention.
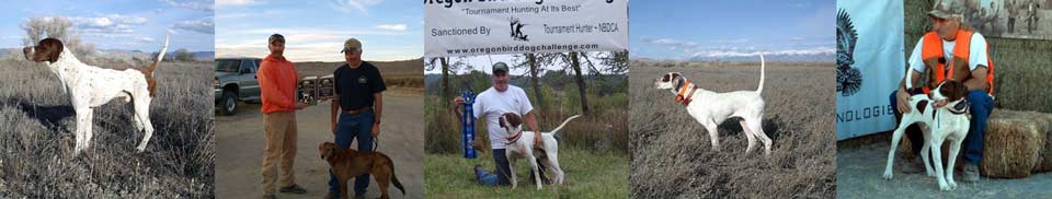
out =
[[[263,198],[274,195],[277,169],[274,163],[281,157],[282,192],[305,194],[296,185],[293,161],[296,160],[296,110],[306,106],[296,99],[296,82],[299,73],[285,52],[285,37],[271,35],[267,39],[271,55],[260,63],[260,93],[263,101],[263,122],[266,130],[266,150],[263,152]]]

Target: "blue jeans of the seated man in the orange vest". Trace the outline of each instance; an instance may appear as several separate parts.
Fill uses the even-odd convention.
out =
[[[895,98],[895,92],[891,92],[891,105],[897,106],[897,98]],[[919,94],[919,90],[910,91],[910,94]],[[968,92],[968,103],[970,103],[970,109],[972,114],[971,124],[969,124],[968,136],[964,137],[964,143],[962,144],[961,150],[963,150],[963,159],[965,163],[969,164],[979,164],[983,159],[983,134],[986,132],[986,120],[990,119],[991,112],[994,110],[994,99],[986,94],[985,91],[969,91]],[[895,112],[896,120],[902,119],[902,113],[899,113],[899,108],[893,108]],[[916,145],[924,144],[924,137],[921,134],[921,129],[916,125],[912,125],[906,128],[906,137],[910,137],[910,143],[913,147],[913,154],[921,155],[921,148]]]

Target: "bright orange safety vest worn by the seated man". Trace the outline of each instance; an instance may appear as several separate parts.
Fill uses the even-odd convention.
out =
[[[970,52],[969,50],[971,49],[970,45],[972,44],[971,42],[972,42],[973,34],[974,34],[973,32],[964,31],[964,30],[960,30],[957,32],[957,40],[953,42],[954,43],[953,58],[947,61],[939,61],[939,59],[942,59],[945,55],[942,55],[942,38],[939,37],[938,33],[933,31],[933,32],[928,32],[927,34],[924,34],[924,44],[922,44],[923,46],[921,49],[921,58],[924,59],[924,65],[928,67],[935,67],[935,70],[931,71],[928,75],[929,80],[931,81],[928,82],[928,86],[925,86],[923,89],[924,93],[929,93],[931,89],[937,86],[940,82],[942,82],[942,80],[946,80],[947,77],[954,78],[954,79],[958,78],[953,75],[953,72],[957,71],[958,69],[962,71],[957,71],[957,72],[964,72],[965,74],[969,73],[968,58]],[[986,70],[986,84],[987,84],[986,92],[993,95],[994,94],[994,61],[993,61],[993,58],[990,57],[988,43],[986,44],[986,55],[987,55],[986,56],[987,57],[986,58],[986,69],[987,69]],[[946,70],[947,62],[950,65],[949,71]],[[975,77],[971,77],[971,78],[975,78]],[[964,80],[959,80],[959,81],[964,81]]]

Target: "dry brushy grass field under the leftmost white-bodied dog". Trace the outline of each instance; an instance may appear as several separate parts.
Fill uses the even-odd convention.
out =
[[[0,62],[0,198],[211,198],[213,62],[161,62],[156,132],[135,147],[132,105],[94,112],[91,147],[73,156],[73,109],[43,63]]]

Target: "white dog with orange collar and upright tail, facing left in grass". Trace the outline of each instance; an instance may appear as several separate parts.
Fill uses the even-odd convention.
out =
[[[762,127],[764,118],[764,98],[761,93],[764,91],[764,55],[759,55],[759,86],[756,91],[735,91],[728,93],[716,93],[698,87],[690,83],[690,80],[684,78],[679,72],[670,72],[654,80],[654,87],[660,90],[670,90],[676,94],[676,103],[687,107],[687,113],[694,119],[697,119],[705,129],[709,131],[709,138],[712,142],[712,149],[720,151],[720,140],[717,127],[731,117],[741,117],[745,138],[748,139],[748,147],[745,148],[745,154],[753,151],[756,145],[756,139],[764,142],[764,154],[770,155],[770,138],[764,133]],[[697,102],[695,102],[697,101]]]

